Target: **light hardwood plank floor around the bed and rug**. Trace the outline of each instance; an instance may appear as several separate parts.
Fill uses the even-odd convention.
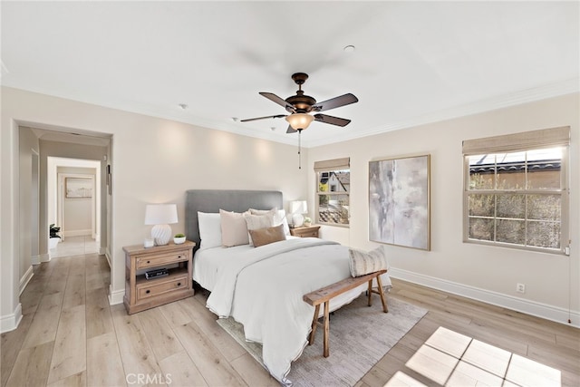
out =
[[[216,324],[205,307],[207,292],[128,315],[123,305],[108,304],[109,278],[104,256],[95,254],[35,266],[21,296],[23,321],[2,334],[2,386],[278,385]],[[387,299],[429,313],[357,386],[383,386],[397,372],[440,385],[406,365],[440,326],[553,367],[563,386],[580,385],[580,330],[419,285],[393,285]]]

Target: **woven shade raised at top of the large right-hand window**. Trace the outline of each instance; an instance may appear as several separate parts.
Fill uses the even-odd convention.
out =
[[[524,131],[484,139],[464,140],[463,154],[486,154],[570,145],[570,127]]]

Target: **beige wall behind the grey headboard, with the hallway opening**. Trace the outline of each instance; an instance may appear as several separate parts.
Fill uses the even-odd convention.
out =
[[[14,186],[19,173],[18,123],[112,134],[113,194],[105,200],[112,208],[108,255],[113,302],[124,294],[122,247],[142,243],[150,232],[143,225],[146,203],[177,203],[179,224],[173,225],[173,231],[183,232],[187,189],[277,189],[284,192],[285,201],[304,198],[306,193],[306,171],[296,167],[295,146],[3,87],[3,326],[19,307],[14,288],[18,265],[12,259],[20,254],[19,233],[14,232],[20,202]]]

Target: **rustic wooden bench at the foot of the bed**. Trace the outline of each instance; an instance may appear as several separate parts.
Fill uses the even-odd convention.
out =
[[[330,300],[337,295],[342,295],[365,282],[369,283],[368,289],[368,305],[372,305],[372,294],[381,295],[382,311],[384,313],[389,312],[387,309],[387,303],[384,299],[384,294],[382,293],[382,283],[381,275],[386,273],[386,270],[380,270],[365,276],[356,276],[343,279],[342,281],[336,282],[332,285],[324,286],[321,289],[315,290],[314,292],[304,295],[302,299],[305,303],[314,306],[314,317],[312,321],[312,332],[310,333],[310,338],[308,339],[308,344],[312,345],[314,343],[314,334],[316,334],[316,327],[318,326],[318,314],[320,312],[320,305],[324,303],[324,357],[328,357],[330,351],[328,348],[328,333],[330,331],[330,320],[329,320],[329,304]],[[377,279],[378,289],[372,289],[372,279]]]

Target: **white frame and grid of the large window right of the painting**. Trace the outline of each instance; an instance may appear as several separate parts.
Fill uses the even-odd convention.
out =
[[[565,129],[567,129],[567,134]],[[539,134],[538,134],[539,133]],[[535,140],[522,140],[525,136],[528,139]],[[538,140],[539,139],[539,140]],[[466,146],[467,142],[467,146]],[[488,145],[486,145],[486,143]],[[501,144],[501,145],[498,145]],[[495,247],[507,247],[527,251],[536,251],[546,254],[556,254],[556,255],[569,255],[569,205],[570,205],[570,188],[569,188],[569,127],[565,128],[555,128],[551,130],[542,131],[532,131],[517,133],[506,136],[497,136],[488,139],[478,139],[470,141],[464,141],[463,150],[463,242],[470,244],[478,244],[485,246],[495,246]],[[558,189],[528,189],[527,185],[525,189],[498,189],[498,170],[494,171],[495,181],[493,189],[469,189],[470,175],[469,175],[469,157],[479,154],[492,154],[492,153],[510,153],[518,151],[531,151],[531,150],[544,150],[550,148],[561,148],[562,158],[560,164],[560,187]],[[526,160],[527,162],[527,160]],[[527,177],[527,174],[526,174]],[[526,179],[527,182],[527,179]],[[498,196],[522,194],[526,198],[530,195],[558,195],[560,197],[560,239],[559,247],[536,247],[519,245],[516,243],[502,242],[497,240],[482,240],[474,239],[469,237],[469,196],[473,194],[491,194]],[[496,200],[498,198],[496,197]],[[497,201],[496,201],[497,203]],[[494,208],[493,219],[498,219],[497,214],[497,204]],[[529,220],[527,218],[523,219],[525,221],[526,227],[529,225]],[[494,226],[494,227],[497,227]],[[497,234],[494,233],[494,239],[497,238]],[[527,240],[524,241],[526,243]]]

